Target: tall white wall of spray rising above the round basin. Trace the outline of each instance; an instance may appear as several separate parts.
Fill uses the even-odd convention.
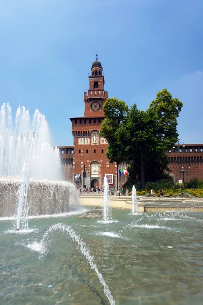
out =
[[[24,163],[30,177],[60,179],[59,150],[50,145],[45,115],[36,109],[32,121],[29,111],[19,106],[13,124],[9,103],[0,111],[0,176],[20,176]]]

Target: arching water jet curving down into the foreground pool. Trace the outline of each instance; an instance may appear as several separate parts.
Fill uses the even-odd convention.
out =
[[[76,232],[70,226],[65,225],[65,224],[60,224],[60,223],[54,224],[53,226],[49,227],[49,229],[43,235],[40,242],[35,241],[34,243],[32,243],[32,245],[28,245],[27,248],[29,248],[32,251],[39,252],[40,258],[43,258],[44,256],[46,256],[48,254],[48,242],[47,242],[48,235],[50,232],[54,232],[57,230],[67,233],[70,236],[70,238],[78,244],[78,248],[79,248],[81,254],[86,257],[88,263],[90,264],[90,267],[92,269],[94,269],[94,271],[96,272],[96,274],[98,276],[100,283],[104,286],[104,292],[105,292],[106,296],[108,297],[110,304],[115,305],[115,301],[113,299],[111,291],[110,291],[108,285],[105,283],[103,275],[101,275],[101,273],[98,271],[98,268],[93,261],[94,257],[90,254],[90,251],[88,250],[88,248],[86,246],[86,243],[83,241],[83,239],[80,237],[80,235],[77,235]]]

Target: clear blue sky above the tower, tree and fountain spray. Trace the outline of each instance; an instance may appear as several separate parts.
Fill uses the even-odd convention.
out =
[[[2,0],[0,101],[46,115],[73,145],[96,51],[109,97],[146,110],[167,88],[183,102],[180,140],[203,143],[202,0]]]

